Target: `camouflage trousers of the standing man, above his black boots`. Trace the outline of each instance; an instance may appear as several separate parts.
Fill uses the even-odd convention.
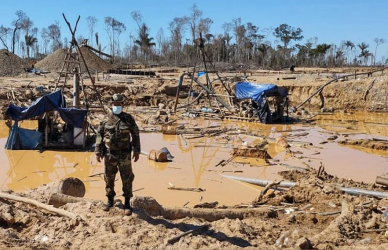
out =
[[[131,163],[131,151],[111,151],[108,155],[105,155],[105,190],[107,196],[115,196],[115,178],[118,171],[120,171],[120,177],[122,181],[123,197],[131,198],[132,195],[132,182],[135,175],[132,171]]]

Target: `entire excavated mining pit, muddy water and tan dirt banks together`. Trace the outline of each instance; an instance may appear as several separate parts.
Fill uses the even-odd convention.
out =
[[[25,78],[19,72],[0,78],[2,192],[47,204],[50,183],[73,177],[80,179],[86,188],[84,198],[59,207],[74,214],[73,218],[0,198],[1,248],[384,249],[388,246],[384,216],[388,200],[381,197],[387,194],[388,187],[375,183],[377,176],[388,175],[385,72],[339,80],[325,87],[322,94],[329,112],[322,112],[317,95],[303,109],[291,112],[292,120],[263,124],[247,117],[225,118],[219,113],[201,112],[203,107],[209,107],[205,96],[191,105],[192,112],[180,108],[190,96],[189,78],[183,82],[178,111],[174,113],[178,77],[190,69],[150,70],[154,75],[100,73],[95,82],[106,106],[113,93],[123,94],[124,111],[135,117],[143,150],[167,147],[174,156],[172,161],[162,163],[141,155],[133,163],[132,216],[123,215],[119,175],[115,181],[115,207],[109,212],[102,210],[106,199],[104,166],[96,161],[92,145],[66,150],[4,149],[9,135],[6,125],[9,104],[31,105],[43,95],[37,87],[42,87],[43,92],[53,92],[58,75]],[[220,75],[231,77],[227,82],[230,86],[243,78],[286,87],[292,108],[333,79],[334,74],[352,72],[354,69],[347,68],[297,68],[295,79],[291,80],[283,80],[290,76],[287,71],[250,70]],[[373,80],[374,85],[367,92]],[[90,79],[84,79],[84,84],[87,99],[98,105]],[[223,95],[221,84],[213,87],[215,93]],[[32,96],[26,95],[27,90],[33,90],[29,92]],[[193,85],[193,90],[198,93],[201,88]],[[72,92],[70,84],[63,88],[66,101],[71,102]],[[217,110],[215,105],[213,108]],[[90,124],[98,127],[102,117],[101,110],[91,112]],[[174,133],[163,133],[162,127],[167,124]],[[25,120],[19,126],[37,129],[38,121]],[[282,143],[277,139],[280,137]],[[235,157],[232,151],[238,148],[266,150],[270,157]],[[225,176],[284,180],[295,185],[281,187],[280,182],[264,188]],[[358,191],[349,194],[344,188],[373,191],[380,196],[361,196]],[[194,232],[176,241],[169,240],[189,230]]]

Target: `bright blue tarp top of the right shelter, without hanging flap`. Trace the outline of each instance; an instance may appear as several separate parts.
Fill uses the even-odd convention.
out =
[[[279,94],[283,97],[287,96],[287,90],[279,90],[275,84],[239,82],[235,85],[235,96],[238,100],[252,99],[256,103],[262,103],[264,95]]]

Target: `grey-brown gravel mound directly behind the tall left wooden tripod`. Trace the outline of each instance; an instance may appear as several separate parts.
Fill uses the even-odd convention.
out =
[[[90,51],[88,48],[81,48],[81,52],[84,55],[86,64],[88,65],[89,71],[92,74],[95,74],[97,71],[107,71],[109,69],[114,69],[112,65],[110,65],[105,60],[98,57],[96,54],[94,54],[92,51]],[[57,73],[61,70],[63,65],[63,60],[66,56],[67,49],[58,49],[54,53],[48,55],[41,61],[37,62],[35,67],[37,69],[50,71],[51,73]],[[71,60],[75,60],[75,58],[72,58]],[[81,61],[81,71],[83,73],[86,73],[86,68],[82,62],[82,59],[80,57]],[[76,64],[70,64],[70,69],[73,68]],[[66,71],[66,69],[64,70]]]

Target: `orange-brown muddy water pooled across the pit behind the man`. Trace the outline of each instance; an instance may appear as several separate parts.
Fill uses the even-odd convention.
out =
[[[315,119],[317,119],[316,126],[195,120],[195,123],[199,123],[201,127],[215,124],[235,126],[236,134],[241,134],[229,135],[229,141],[222,138],[183,140],[179,135],[142,133],[143,150],[167,147],[175,158],[169,163],[155,163],[141,155],[139,161],[133,163],[134,195],[152,196],[167,206],[183,206],[189,202],[187,207],[192,207],[200,202],[213,201],[218,201],[220,205],[234,205],[252,201],[260,191],[260,187],[222,178],[219,175],[220,171],[224,171],[223,174],[250,178],[279,179],[277,172],[286,170],[286,168],[263,166],[266,165],[264,160],[250,158],[235,158],[233,162],[224,167],[215,167],[221,160],[230,158],[231,147],[241,145],[241,140],[247,141],[251,145],[260,142],[260,140],[243,135],[243,132],[238,129],[246,129],[271,138],[307,132],[306,136],[292,138],[297,141],[312,142],[316,146],[312,149],[292,147],[293,151],[301,151],[302,155],[307,157],[301,160],[289,157],[284,149],[270,144],[271,157],[279,160],[280,163],[303,167],[302,162],[304,162],[309,166],[318,168],[322,162],[330,174],[364,182],[374,182],[377,175],[384,173],[384,169],[388,166],[386,158],[388,153],[341,146],[336,141],[372,137],[388,139],[388,125],[383,124],[388,123],[387,114],[339,113],[321,115]],[[22,124],[25,128],[36,127],[35,121],[24,121]],[[319,144],[331,136],[330,133],[333,132],[339,132],[343,135],[340,135],[336,141]],[[77,177],[83,180],[86,185],[86,197],[105,200],[105,183],[102,174],[88,177],[104,172],[104,166],[96,161],[92,152],[6,150],[4,145],[7,136],[8,128],[4,121],[0,121],[0,189],[8,188],[22,191],[64,177]],[[315,154],[317,152],[320,153]],[[234,171],[243,172],[236,173]],[[168,190],[169,183],[176,187],[200,187],[205,191],[196,193]],[[122,198],[120,196],[122,191],[119,174],[116,180],[116,193],[118,198]]]

